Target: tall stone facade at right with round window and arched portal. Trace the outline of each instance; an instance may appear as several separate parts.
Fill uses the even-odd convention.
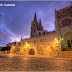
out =
[[[62,48],[72,48],[72,5],[55,10],[55,28],[60,34]]]

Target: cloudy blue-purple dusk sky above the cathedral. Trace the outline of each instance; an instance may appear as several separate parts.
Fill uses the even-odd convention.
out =
[[[45,30],[55,30],[55,8],[59,10],[71,5],[70,1],[0,1],[1,3],[15,4],[15,7],[0,6],[0,46],[20,41],[21,36],[23,39],[29,38],[35,12],[37,21],[41,18]]]

